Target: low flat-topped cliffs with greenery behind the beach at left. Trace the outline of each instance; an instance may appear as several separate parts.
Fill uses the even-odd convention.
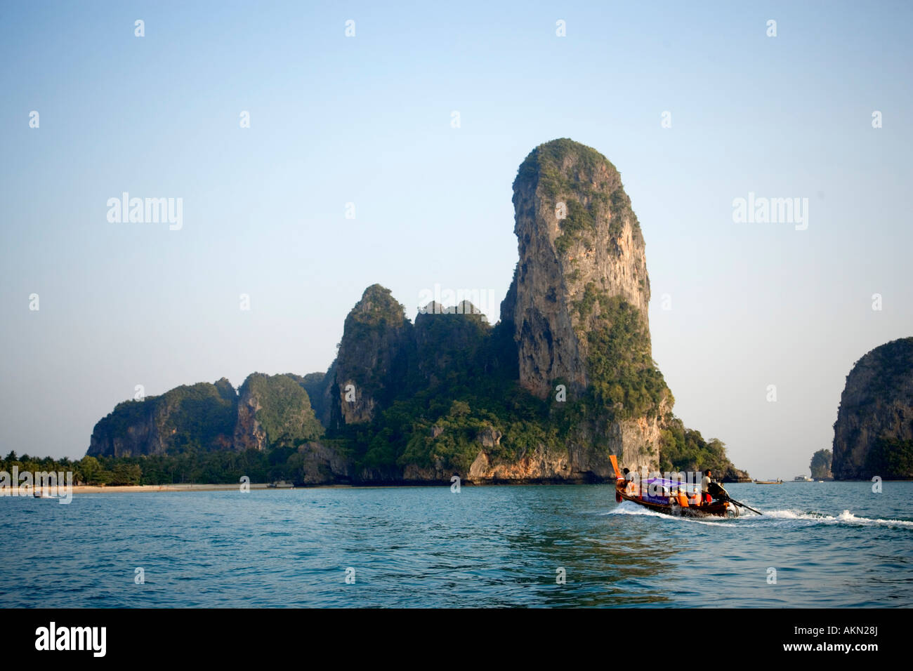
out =
[[[253,373],[240,401],[223,378],[118,404],[95,426],[88,455],[64,470],[91,485],[300,481],[305,455],[323,435],[307,382]]]

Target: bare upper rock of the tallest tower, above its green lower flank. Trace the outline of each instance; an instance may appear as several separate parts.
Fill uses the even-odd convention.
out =
[[[614,165],[553,140],[520,164],[513,193],[519,265],[501,320],[514,323],[520,383],[540,398],[559,381],[582,393],[594,373],[591,335],[611,325],[620,302],[640,321],[649,360],[644,236]]]

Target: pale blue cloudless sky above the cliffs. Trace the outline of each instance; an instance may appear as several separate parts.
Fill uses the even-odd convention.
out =
[[[676,413],[756,477],[831,445],[853,363],[913,335],[910,5],[428,5],[0,5],[0,451],[82,456],[136,384],[325,371],[374,282],[500,299],[559,137],[622,173]],[[124,191],[183,229],[110,224]],[[808,229],[734,224],[749,192]]]

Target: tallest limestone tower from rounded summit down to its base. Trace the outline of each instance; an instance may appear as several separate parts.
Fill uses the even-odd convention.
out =
[[[673,399],[652,359],[644,236],[621,175],[556,140],[530,152],[513,191],[519,263],[501,320],[514,325],[519,383],[540,398],[563,384],[590,402],[572,454],[602,443],[628,467],[656,469]]]

